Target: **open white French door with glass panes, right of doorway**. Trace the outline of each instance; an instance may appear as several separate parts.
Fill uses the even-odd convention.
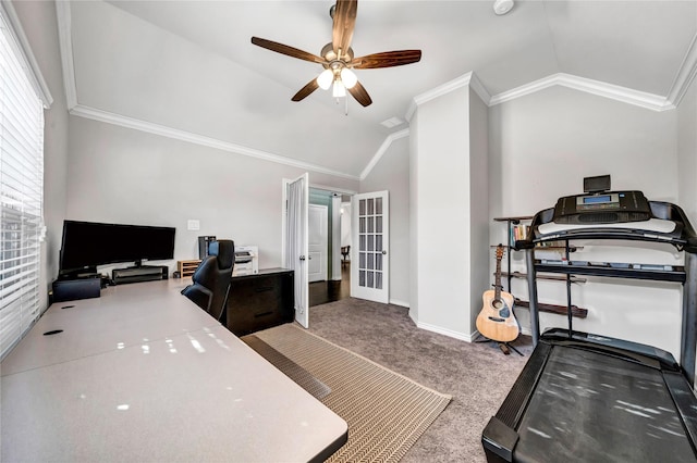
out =
[[[351,296],[388,303],[390,300],[390,216],[388,191],[352,199]]]

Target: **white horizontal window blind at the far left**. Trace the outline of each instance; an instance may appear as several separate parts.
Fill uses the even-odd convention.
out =
[[[0,15],[0,359],[40,314],[44,108]]]

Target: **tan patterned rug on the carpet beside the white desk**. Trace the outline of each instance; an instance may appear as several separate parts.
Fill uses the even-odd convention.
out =
[[[242,339],[254,338],[331,390],[321,402],[348,423],[348,441],[329,462],[399,461],[451,400],[294,324]]]

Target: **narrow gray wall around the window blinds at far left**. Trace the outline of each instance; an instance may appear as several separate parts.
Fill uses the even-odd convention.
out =
[[[68,110],[58,48],[56,4],[52,1],[15,1],[12,3],[32,47],[32,52],[49,87],[53,103],[44,112],[44,222],[46,240],[41,247],[41,306],[48,304],[50,283],[58,275],[65,214]]]

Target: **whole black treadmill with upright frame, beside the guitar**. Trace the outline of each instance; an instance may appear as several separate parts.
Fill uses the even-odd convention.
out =
[[[697,235],[680,207],[659,201],[641,207],[639,201],[638,215],[633,208],[623,214],[624,205],[607,204],[619,202],[620,195],[604,195],[607,201],[591,199],[587,209],[582,196],[567,197],[573,200],[560,208],[562,198],[555,208],[538,212],[527,238],[515,245],[526,252],[535,350],[482,431],[490,463],[697,462],[697,399],[692,386],[697,348]],[[663,242],[685,253],[685,265],[535,260],[536,245],[560,240],[568,258],[570,241],[575,239]],[[540,336],[538,272],[567,276],[568,306],[571,275],[681,283],[682,365],[661,349],[574,331],[571,310],[567,329],[552,328]]]

